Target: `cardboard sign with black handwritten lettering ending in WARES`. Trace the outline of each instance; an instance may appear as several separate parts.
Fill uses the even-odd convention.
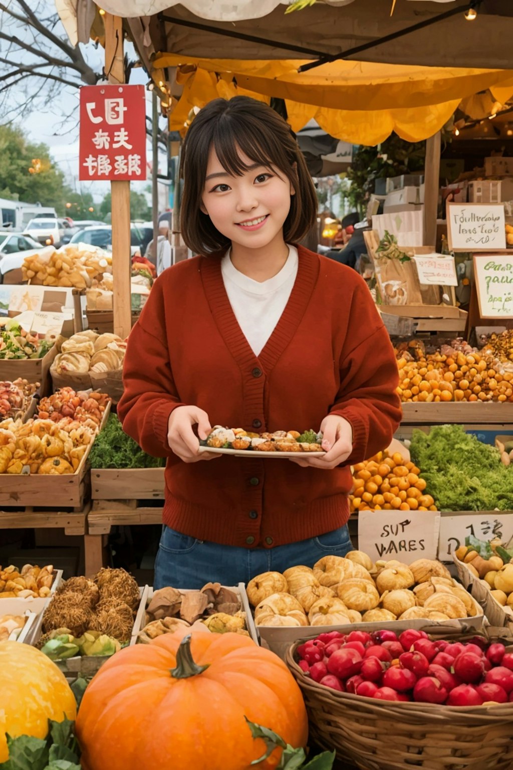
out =
[[[439,531],[436,511],[358,511],[358,548],[372,561],[435,559]]]

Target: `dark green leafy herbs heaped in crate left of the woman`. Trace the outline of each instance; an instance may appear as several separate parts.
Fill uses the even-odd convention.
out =
[[[111,414],[105,428],[95,438],[89,463],[92,468],[160,468],[165,465],[165,460],[143,452],[125,434],[117,415]]]

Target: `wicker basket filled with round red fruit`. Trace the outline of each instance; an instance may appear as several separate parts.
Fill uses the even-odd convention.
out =
[[[311,737],[361,770],[511,770],[513,648],[462,639],[331,631],[292,644]]]

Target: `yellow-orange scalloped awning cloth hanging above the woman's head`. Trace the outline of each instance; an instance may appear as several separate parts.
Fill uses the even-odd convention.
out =
[[[395,131],[416,142],[444,126],[461,99],[491,89],[501,103],[513,95],[513,70],[423,67],[339,60],[298,72],[306,60],[197,59],[164,53],[155,68],[176,67],[182,96],[170,115],[184,129],[193,107],[218,96],[285,99],[295,131],[310,119],[331,136],[375,145]]]

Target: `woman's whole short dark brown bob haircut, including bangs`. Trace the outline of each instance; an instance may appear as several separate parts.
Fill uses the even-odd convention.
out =
[[[240,151],[261,166],[274,166],[289,179],[295,195],[283,225],[286,242],[297,243],[315,225],[318,203],[314,183],[288,123],[267,104],[249,96],[214,99],[192,121],[180,163],[184,179],[182,236],[195,253],[222,252],[231,243],[200,208],[211,146],[230,174],[242,176],[245,172]]]

